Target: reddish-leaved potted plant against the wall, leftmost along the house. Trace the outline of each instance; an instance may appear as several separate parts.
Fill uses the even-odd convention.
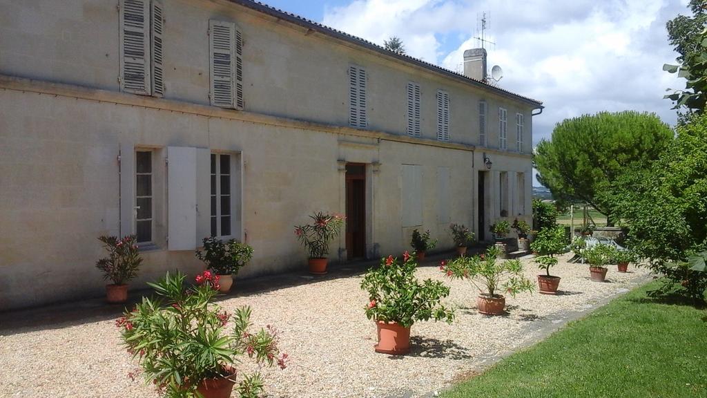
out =
[[[103,242],[103,247],[108,251],[106,258],[101,258],[95,263],[96,268],[103,271],[103,279],[110,280],[110,285],[105,285],[107,302],[116,304],[128,300],[127,283],[137,276],[137,271],[142,263],[136,235],[127,235],[122,239],[103,236],[98,240]]]

